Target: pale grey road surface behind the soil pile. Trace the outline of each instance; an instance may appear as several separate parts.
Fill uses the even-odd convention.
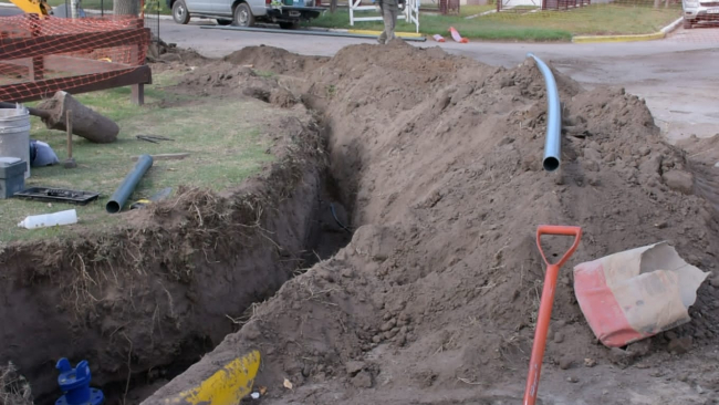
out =
[[[308,55],[334,55],[340,49],[372,40],[263,34],[201,30],[191,22],[178,25],[163,21],[160,37],[178,46],[194,48],[206,56],[225,56],[251,45],[284,48]],[[436,42],[413,43],[440,46],[480,62],[507,68],[521,63],[527,52],[550,60],[563,73],[587,87],[596,83],[615,83],[629,93],[646,98],[657,124],[667,137],[676,141],[696,134],[712,136],[718,132],[719,114],[711,105],[719,103],[719,28],[679,29],[668,39],[633,43],[542,44]],[[712,91],[712,89],[715,91]]]

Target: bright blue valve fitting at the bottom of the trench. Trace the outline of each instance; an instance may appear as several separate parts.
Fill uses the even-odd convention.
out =
[[[58,384],[64,394],[55,401],[55,405],[101,405],[105,402],[102,391],[90,387],[90,366],[86,360],[73,368],[70,361],[63,357],[55,368],[60,370]]]

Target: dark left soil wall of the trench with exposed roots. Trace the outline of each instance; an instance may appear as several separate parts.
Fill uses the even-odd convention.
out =
[[[2,251],[0,364],[19,367],[35,403],[61,395],[60,357],[87,360],[108,404],[171,378],[312,261],[326,157],[312,117],[296,115],[272,128],[277,163],[240,189],[180,188],[110,233]]]

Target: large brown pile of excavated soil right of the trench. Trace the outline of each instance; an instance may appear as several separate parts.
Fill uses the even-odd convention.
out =
[[[329,60],[250,48],[196,73],[247,64],[294,76],[288,91],[322,115],[356,231],[145,404],[250,349],[262,353],[256,383],[270,387],[269,403],[518,403],[543,281],[534,242],[543,224],[584,230],[561,272],[544,403],[713,403],[719,278],[699,289],[690,323],[626,350],[597,343],[573,292],[572,266],[661,240],[716,269],[717,200],[697,185],[716,181],[717,170],[665,143],[643,100],[618,87],[586,91],[555,71],[565,136],[562,169],[549,174],[544,82],[530,60],[493,68],[396,41]],[[556,256],[570,242],[544,248]]]

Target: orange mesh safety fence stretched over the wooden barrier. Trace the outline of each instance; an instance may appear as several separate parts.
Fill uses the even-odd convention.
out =
[[[148,82],[148,43],[135,17],[0,17],[0,101]]]

